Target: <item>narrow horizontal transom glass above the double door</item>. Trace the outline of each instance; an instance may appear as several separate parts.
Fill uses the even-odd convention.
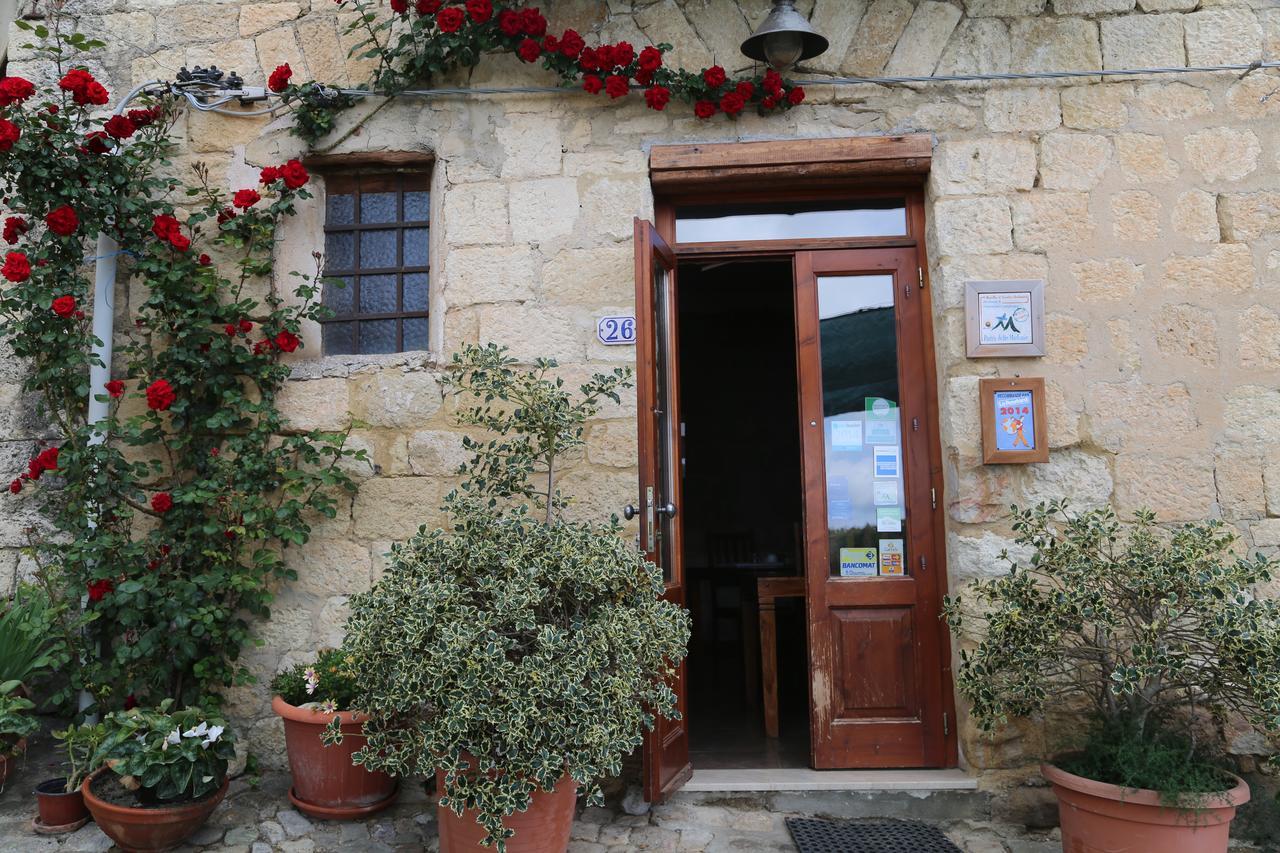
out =
[[[676,210],[676,240],[712,243],[745,240],[899,237],[906,234],[902,199],[840,205],[716,205]]]

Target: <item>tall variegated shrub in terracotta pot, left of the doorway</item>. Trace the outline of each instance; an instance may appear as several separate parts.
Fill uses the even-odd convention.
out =
[[[557,476],[588,418],[630,374],[572,393],[556,364],[517,369],[471,346],[448,380],[458,420],[479,428],[447,529],[392,548],[374,588],[351,599],[346,648],[367,715],[370,770],[436,774],[440,849],[562,852],[576,792],[621,771],[685,656],[687,613],[612,523],[575,521]],[[326,738],[340,742],[330,725]]]

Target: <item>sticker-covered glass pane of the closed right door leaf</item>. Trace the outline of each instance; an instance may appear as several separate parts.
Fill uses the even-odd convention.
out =
[[[818,278],[831,574],[908,574],[892,275]]]

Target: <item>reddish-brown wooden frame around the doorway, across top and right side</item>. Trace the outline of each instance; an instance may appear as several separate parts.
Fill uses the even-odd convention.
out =
[[[755,143],[740,143],[744,146]],[[675,146],[673,146],[675,147]],[[739,147],[726,145],[722,147]],[[914,161],[913,161],[914,163]],[[812,165],[812,164],[810,164]],[[925,173],[928,160],[924,163]],[[778,169],[785,173],[788,168]],[[714,179],[707,179],[696,186],[682,188],[678,184],[667,184],[662,190],[654,186],[654,225],[658,234],[671,246],[680,261],[704,260],[716,257],[717,260],[742,260],[753,257],[794,257],[797,251],[813,251],[822,248],[914,248],[916,263],[920,269],[919,296],[923,300],[920,310],[928,319],[922,328],[920,348],[924,359],[925,382],[932,387],[933,393],[925,394],[928,448],[929,448],[929,488],[934,489],[937,498],[945,494],[942,482],[942,438],[941,414],[937,373],[937,348],[934,339],[933,314],[933,288],[929,282],[928,252],[925,247],[925,216],[924,216],[924,188],[923,182],[927,174],[918,178],[913,175],[902,179],[902,172],[890,172],[891,177],[868,177],[860,173],[854,181],[832,179],[828,186],[813,186],[804,181],[797,181],[792,188],[786,188],[773,183],[773,188],[760,188],[759,183],[744,183],[741,174],[732,167],[724,167]],[[772,183],[772,182],[771,182]],[[832,186],[833,184],[833,186]],[[744,190],[744,186],[753,188]],[[742,241],[737,243],[680,243],[676,241],[676,210],[682,206],[719,205],[726,202],[804,202],[804,201],[864,201],[868,199],[904,199],[906,204],[906,236],[896,237],[870,237],[850,240],[771,240],[771,241]],[[938,500],[932,506],[933,553],[928,558],[933,565],[942,567],[934,571],[933,583],[937,585],[937,596],[941,601],[947,594],[947,558],[946,558],[946,512],[945,500]],[[952,675],[952,647],[951,631],[946,626],[938,630],[938,656],[942,662],[940,676],[942,683],[942,708],[943,708],[943,743],[946,767],[959,766],[959,738],[956,725],[955,680]]]

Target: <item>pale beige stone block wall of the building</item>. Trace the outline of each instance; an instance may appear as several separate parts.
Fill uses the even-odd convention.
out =
[[[636,45],[671,42],[686,67],[744,64],[737,45],[765,0],[547,3],[553,27]],[[1230,0],[808,0],[831,37],[820,73],[928,74],[1091,70],[1100,67],[1247,63],[1280,51],[1280,8]],[[1256,8],[1254,8],[1256,6]],[[343,13],[329,0],[184,3],[70,0],[81,27],[109,42],[96,70],[120,92],[216,63],[261,83],[289,61],[296,79],[360,82],[344,61]],[[22,56],[18,56],[19,65]],[[24,73],[35,69],[20,65]],[[486,60],[458,82],[529,85],[540,72]],[[810,86],[786,114],[699,122],[672,105],[653,113],[582,93],[403,99],[338,151],[435,155],[433,351],[401,356],[296,353],[285,411],[298,428],[343,426],[376,471],[314,539],[291,551],[300,580],[282,590],[252,653],[261,681],[233,708],[266,761],[283,756],[265,681],[342,637],[346,596],[365,589],[392,542],[449,488],[457,434],[434,371],[463,341],[498,341],[522,357],[553,356],[572,377],[634,353],[595,343],[595,318],[632,305],[631,219],[653,199],[646,150],[678,141],[928,132],[928,255],[946,459],[952,588],[1001,570],[1011,502],[1070,497],[1076,506],[1151,506],[1165,520],[1221,516],[1249,547],[1280,546],[1280,77],[1253,73],[1133,79],[918,86]],[[344,117],[344,128],[370,106]],[[229,187],[302,152],[287,120],[191,114],[177,167],[209,163]],[[337,138],[337,134],[335,137]],[[320,201],[283,234],[280,275],[305,269],[320,241]],[[964,355],[969,278],[1043,278],[1048,355]],[[280,279],[283,284],[285,279]],[[128,293],[118,300],[122,315]],[[310,339],[315,342],[316,334]],[[38,429],[18,405],[15,366],[0,373],[6,459],[24,459]],[[1051,461],[980,464],[980,377],[1044,375]],[[635,501],[634,398],[604,412],[566,471],[577,512]],[[10,465],[10,467],[14,467]],[[0,546],[14,571],[23,503],[4,505]],[[1018,733],[965,760],[1021,761]]]

